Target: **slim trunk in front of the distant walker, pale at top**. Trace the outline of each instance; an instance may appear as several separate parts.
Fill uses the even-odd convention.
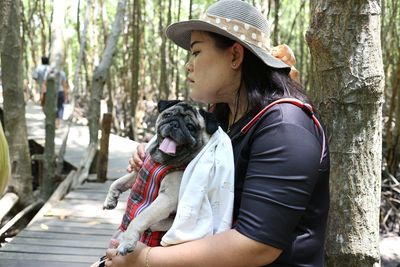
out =
[[[60,84],[60,71],[64,62],[64,18],[66,2],[55,0],[53,6],[53,21],[51,23],[52,40],[50,50],[50,68],[46,81],[46,101],[44,107],[46,139],[44,146],[43,182],[41,185],[41,196],[47,200],[54,191],[56,174],[55,155],[55,120],[57,112],[57,91]]]

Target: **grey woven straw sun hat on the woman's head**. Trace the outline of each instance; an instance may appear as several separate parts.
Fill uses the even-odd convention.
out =
[[[237,41],[272,68],[290,67],[271,55],[270,27],[264,16],[241,0],[221,0],[211,5],[200,19],[176,22],[165,31],[178,46],[190,50],[194,30],[214,32]]]

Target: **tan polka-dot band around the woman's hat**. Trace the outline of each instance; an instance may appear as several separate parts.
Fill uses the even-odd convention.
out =
[[[252,25],[236,19],[223,18],[208,13],[204,13],[201,16],[201,20],[229,32],[243,42],[258,46],[270,53],[269,35]]]

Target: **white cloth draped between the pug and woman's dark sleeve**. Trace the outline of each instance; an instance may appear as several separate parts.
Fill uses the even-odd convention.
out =
[[[230,229],[234,175],[232,143],[219,127],[183,173],[176,216],[161,245],[179,244]]]

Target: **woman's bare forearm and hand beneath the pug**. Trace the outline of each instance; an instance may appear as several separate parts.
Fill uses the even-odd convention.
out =
[[[108,250],[112,258],[106,266],[146,266],[146,255],[151,267],[180,266],[263,266],[272,263],[282,251],[254,241],[236,230],[229,230],[204,239],[171,247],[138,247],[126,256],[115,256],[115,250]]]

